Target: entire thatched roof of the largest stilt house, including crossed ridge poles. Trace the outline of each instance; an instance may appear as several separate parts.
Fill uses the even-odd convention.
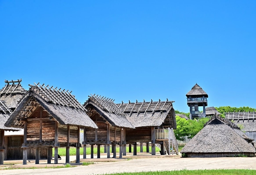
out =
[[[5,126],[23,128],[23,123],[19,119],[29,118],[29,115],[38,106],[42,106],[62,125],[98,128],[86,114],[86,109],[76,100],[75,96],[71,95],[71,92],[39,83],[30,86],[31,88],[21,99]]]

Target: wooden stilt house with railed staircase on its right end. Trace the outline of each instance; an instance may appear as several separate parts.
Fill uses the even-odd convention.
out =
[[[170,154],[170,144],[178,154],[178,142],[173,134],[176,129],[175,111],[172,107],[174,101],[150,101],[135,103],[117,104],[119,109],[126,115],[127,120],[135,128],[126,129],[126,143],[134,145],[133,154],[136,155],[136,144],[146,143],[149,152],[149,142],[151,142],[152,155],[156,154],[155,144],[161,144],[161,154],[164,154],[164,147]],[[169,132],[168,132],[169,128]],[[173,149],[172,149],[173,150]],[[129,150],[130,151],[130,150]],[[172,152],[173,153],[173,152]]]

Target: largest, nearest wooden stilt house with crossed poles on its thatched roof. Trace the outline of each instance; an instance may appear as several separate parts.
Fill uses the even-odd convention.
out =
[[[80,128],[98,128],[88,117],[86,109],[71,92],[40,85],[29,85],[17,108],[5,123],[7,127],[24,128],[23,164],[27,164],[28,147],[36,148],[36,164],[40,149],[47,148],[47,163],[51,163],[54,147],[54,163],[58,163],[58,147],[66,147],[69,163],[69,147],[76,147],[76,163],[80,162]]]

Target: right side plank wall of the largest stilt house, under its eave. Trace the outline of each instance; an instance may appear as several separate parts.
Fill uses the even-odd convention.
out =
[[[68,126],[59,124],[58,142],[67,143],[67,141],[68,141]],[[77,142],[77,127],[70,126],[69,143],[76,143],[76,142]]]

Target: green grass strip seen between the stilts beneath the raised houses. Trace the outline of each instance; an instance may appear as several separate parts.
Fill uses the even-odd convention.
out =
[[[111,147],[110,147],[111,150]],[[147,148],[146,146],[143,146],[143,152],[146,152]],[[132,148],[133,151],[133,148]],[[156,147],[156,152],[159,152],[160,149]],[[116,152],[119,153],[119,147],[116,147]],[[126,152],[129,152],[129,147],[126,147]],[[140,152],[140,147],[137,147],[137,152]],[[149,147],[149,152],[151,152],[151,147]],[[100,153],[104,153],[104,148],[100,147]],[[58,154],[60,156],[66,156],[66,148],[59,148],[58,149]],[[84,148],[80,148],[80,155],[84,154]],[[86,147],[86,154],[90,155],[91,154],[91,148]],[[97,148],[93,148],[93,154],[97,154]],[[69,155],[70,156],[75,156],[76,155],[76,148],[70,148],[69,150]],[[54,156],[54,148],[52,149],[52,156]]]

